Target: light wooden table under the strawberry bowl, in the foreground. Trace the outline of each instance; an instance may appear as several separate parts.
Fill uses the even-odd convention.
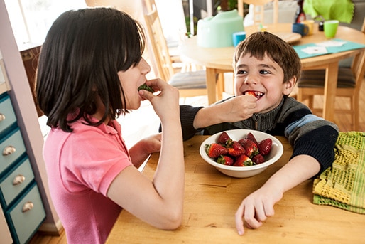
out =
[[[364,243],[365,216],[312,203],[312,180],[286,192],[275,206],[275,216],[261,228],[236,233],[234,213],[244,197],[258,189],[289,159],[293,150],[284,137],[283,156],[257,176],[225,176],[200,157],[206,136],[195,136],[185,147],[185,203],[178,230],[160,230],[121,211],[107,243]],[[150,179],[158,154],[148,160],[143,174]]]

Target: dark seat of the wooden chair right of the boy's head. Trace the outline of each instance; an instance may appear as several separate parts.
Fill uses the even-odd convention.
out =
[[[298,81],[300,88],[318,88],[325,86],[325,70],[303,70]],[[338,88],[354,88],[356,80],[351,68],[339,68],[337,79]]]

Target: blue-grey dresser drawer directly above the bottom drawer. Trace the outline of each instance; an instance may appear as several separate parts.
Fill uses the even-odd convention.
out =
[[[0,190],[4,198],[5,205],[9,206],[11,201],[13,201],[13,199],[16,198],[21,191],[26,189],[26,186],[28,186],[33,179],[34,174],[31,162],[28,158],[26,158],[16,167],[16,169],[6,176],[4,181],[0,182]],[[4,206],[4,208],[6,208],[6,206]]]

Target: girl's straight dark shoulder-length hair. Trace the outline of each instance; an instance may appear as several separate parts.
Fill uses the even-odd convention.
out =
[[[128,112],[117,73],[137,65],[144,47],[141,24],[124,12],[92,8],[61,14],[45,38],[36,76],[36,97],[47,124],[72,132],[70,123],[81,117],[99,125]],[[106,110],[95,123],[89,115],[98,100]]]

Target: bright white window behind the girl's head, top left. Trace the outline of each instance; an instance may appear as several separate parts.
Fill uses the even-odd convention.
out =
[[[43,43],[53,21],[70,9],[85,8],[85,0],[5,0],[18,43]]]

